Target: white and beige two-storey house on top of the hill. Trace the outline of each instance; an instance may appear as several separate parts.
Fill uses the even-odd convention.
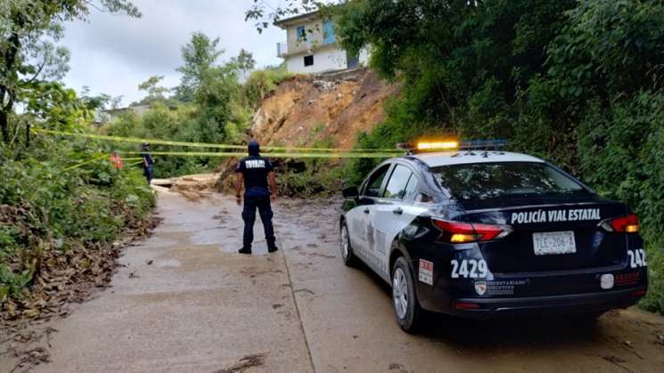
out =
[[[318,12],[278,20],[275,26],[286,30],[286,41],[277,43],[276,50],[291,72],[316,74],[368,64],[366,51],[351,56],[341,49],[334,22],[323,19]]]

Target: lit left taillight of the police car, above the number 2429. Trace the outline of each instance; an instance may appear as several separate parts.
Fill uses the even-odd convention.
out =
[[[452,243],[502,239],[512,232],[504,225],[452,222],[435,218],[431,221],[443,231],[441,238]]]

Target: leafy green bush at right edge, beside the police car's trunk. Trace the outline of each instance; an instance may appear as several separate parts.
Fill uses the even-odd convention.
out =
[[[664,93],[637,93],[607,108],[594,101],[578,126],[580,172],[600,194],[618,199],[640,218],[650,258],[651,289],[643,301],[664,310],[659,231],[664,224]]]

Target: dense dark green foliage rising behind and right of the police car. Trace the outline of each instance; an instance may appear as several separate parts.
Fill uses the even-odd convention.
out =
[[[350,52],[403,82],[358,146],[421,135],[506,138],[551,159],[640,216],[651,290],[664,312],[664,2],[381,0],[340,7]],[[360,160],[348,178],[373,166]]]

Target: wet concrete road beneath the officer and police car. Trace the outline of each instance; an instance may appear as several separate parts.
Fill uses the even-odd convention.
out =
[[[162,192],[164,222],[127,248],[112,288],[54,323],[53,362],[36,371],[215,372],[255,354],[263,365],[244,371],[664,371],[664,319],[635,309],[596,326],[432,317],[407,335],[387,285],[341,263],[337,205],[277,201],[282,250],[266,254],[257,222],[245,256],[233,199]]]

